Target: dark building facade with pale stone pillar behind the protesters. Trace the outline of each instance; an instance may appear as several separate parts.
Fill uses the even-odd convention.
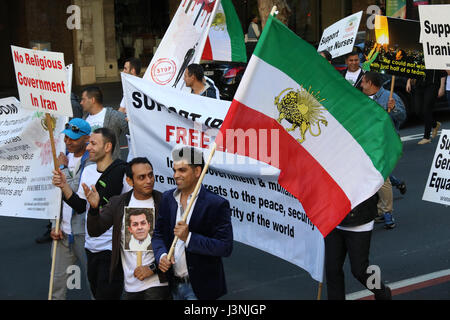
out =
[[[246,33],[258,14],[258,0],[232,0]],[[407,0],[408,17],[418,19],[415,0]],[[421,1],[423,2],[423,1]],[[16,87],[10,45],[42,45],[63,52],[74,65],[74,85],[119,81],[124,60],[140,57],[147,66],[180,0],[6,0],[0,2],[0,57],[6,61],[0,93]],[[317,44],[325,28],[363,11],[360,29],[376,5],[385,0],[287,0],[289,27]],[[450,3],[433,0],[432,4]],[[384,12],[384,11],[383,11]]]

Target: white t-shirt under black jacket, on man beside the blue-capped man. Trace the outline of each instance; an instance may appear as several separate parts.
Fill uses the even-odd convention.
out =
[[[92,164],[84,168],[83,174],[81,175],[80,186],[78,188],[77,194],[81,199],[86,200],[86,196],[83,190],[83,183],[87,186],[92,186],[97,183],[97,180],[102,175],[101,172],[97,171],[97,165]],[[123,188],[122,194],[131,190],[131,187],[125,180],[125,176],[123,178]],[[89,210],[89,202],[86,204],[86,211]],[[97,253],[100,251],[109,250],[112,251],[112,230],[113,227],[109,228],[105,233],[103,233],[99,237],[90,237],[87,231],[87,223],[86,223],[86,238],[84,247],[88,249],[92,253]]]

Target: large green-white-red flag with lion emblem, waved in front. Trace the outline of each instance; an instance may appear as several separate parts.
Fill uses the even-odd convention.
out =
[[[268,130],[278,143],[265,144]],[[220,131],[218,150],[279,170],[324,237],[378,191],[402,153],[386,111],[272,16]],[[236,131],[258,133],[258,143],[234,148]]]

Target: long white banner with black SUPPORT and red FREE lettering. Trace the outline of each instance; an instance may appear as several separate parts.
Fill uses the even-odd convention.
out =
[[[176,187],[171,151],[202,148],[205,160],[230,102],[161,88],[122,74],[134,156],[153,164],[155,189]],[[272,136],[271,138],[277,138]],[[230,202],[236,241],[323,278],[324,241],[301,204],[281,188],[279,170],[254,159],[216,151],[203,185]]]

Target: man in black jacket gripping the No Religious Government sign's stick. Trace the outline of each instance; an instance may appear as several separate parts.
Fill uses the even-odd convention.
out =
[[[83,213],[89,208],[85,188],[91,186],[99,195],[99,205],[106,205],[114,195],[127,192],[130,188],[124,183],[126,163],[120,159],[113,161],[115,135],[112,130],[99,128],[89,139],[87,150],[89,159],[95,165],[87,166],[81,177],[78,191],[67,184],[61,170],[53,171],[53,184],[61,188],[64,201],[76,212]],[[87,222],[89,229],[89,221]],[[86,232],[87,233],[87,232]],[[85,249],[87,255],[88,280],[92,294],[97,300],[118,300],[123,290],[123,274],[110,273],[112,250],[112,230],[105,230],[99,237],[86,234]]]

